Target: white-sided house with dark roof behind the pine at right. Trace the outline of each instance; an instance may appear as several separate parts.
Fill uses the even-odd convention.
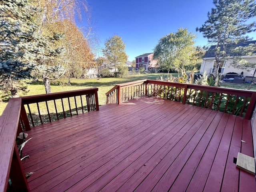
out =
[[[256,44],[256,40],[254,41],[248,41],[245,43],[238,43],[235,47],[238,46],[248,46],[249,44]],[[215,57],[214,57],[214,48],[216,47],[216,45],[213,45],[209,48],[209,50],[206,52],[206,54],[204,55],[204,58],[202,60],[202,64],[201,64],[201,69],[200,69],[200,73],[202,74],[204,71],[207,72],[207,74],[212,74],[213,70],[214,70],[214,65],[216,63],[215,61]],[[232,62],[235,56],[230,55],[230,58],[227,59],[224,62],[224,65],[222,66],[222,68],[219,69],[219,74],[226,76],[227,73],[230,72],[235,72],[237,74],[243,74],[243,76],[252,76],[254,69],[238,69],[235,68],[234,66],[232,66]],[[246,60],[247,62],[250,63],[256,63],[256,55],[254,56],[247,56],[247,55],[240,55],[241,58],[243,58],[244,60]],[[256,74],[255,74],[256,75]]]

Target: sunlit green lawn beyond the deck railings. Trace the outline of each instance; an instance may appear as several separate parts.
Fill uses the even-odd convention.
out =
[[[178,76],[178,74],[172,74],[173,76]],[[59,86],[59,85],[51,85],[52,92],[62,92],[62,91],[70,91],[70,90],[79,90],[84,88],[92,88],[98,87],[98,98],[99,104],[104,105],[106,104],[106,92],[112,89],[116,84],[121,84],[125,82],[132,82],[136,80],[143,80],[143,79],[152,79],[156,80],[156,78],[163,78],[167,77],[167,74],[135,74],[129,77],[124,78],[98,78],[98,79],[72,79],[71,86]],[[227,88],[237,88],[237,89],[246,89],[250,84],[234,84],[234,83],[222,83],[222,87]],[[42,81],[34,82],[28,85],[28,94],[30,95],[37,95],[37,94],[45,94],[44,84]],[[256,85],[252,85],[250,90],[256,90]],[[25,95],[20,95],[25,96]],[[0,115],[2,114],[4,108],[6,107],[7,102],[3,102],[0,104]],[[31,109],[32,111],[36,112],[35,110]],[[45,110],[44,112],[45,113]],[[42,113],[42,114],[43,114]]]

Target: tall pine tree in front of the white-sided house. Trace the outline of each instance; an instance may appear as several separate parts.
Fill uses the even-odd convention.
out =
[[[209,43],[216,44],[213,72],[216,77],[228,56],[242,52],[248,55],[256,50],[255,44],[234,48],[235,44],[252,39],[246,34],[256,30],[256,22],[248,22],[256,16],[256,3],[255,0],[214,0],[213,3],[216,8],[208,12],[208,20],[196,30],[202,32]]]

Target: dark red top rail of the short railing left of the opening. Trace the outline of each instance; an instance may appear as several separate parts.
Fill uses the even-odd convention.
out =
[[[87,89],[80,89],[80,90],[56,92],[56,93],[50,93],[50,94],[25,96],[21,98],[24,104],[31,104],[35,102],[43,102],[43,101],[49,101],[54,99],[67,98],[71,96],[80,96],[82,94],[93,94],[95,93],[95,91],[98,91],[98,88],[94,87],[94,88],[87,88]]]

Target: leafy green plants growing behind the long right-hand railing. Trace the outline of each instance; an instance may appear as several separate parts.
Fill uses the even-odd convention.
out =
[[[190,77],[193,73],[190,74]],[[162,79],[162,78],[161,78]],[[166,78],[165,81],[168,82],[182,82],[190,83],[193,81],[188,75],[182,70],[182,74],[179,77]],[[212,76],[206,76],[206,73],[202,74],[202,79],[196,81],[196,83],[202,83],[208,86],[216,86],[219,84],[219,80],[214,80]],[[151,89],[152,92],[149,95],[158,96],[160,98],[166,98],[178,102],[183,102],[185,88],[176,86],[163,86],[157,85]],[[250,103],[250,98],[244,96],[238,96],[234,94],[221,94],[218,92],[207,92],[197,89],[187,89],[186,90],[186,103],[193,104],[195,106],[200,106],[203,108],[210,108],[212,110],[218,110],[221,112],[234,114],[238,116],[245,116],[246,109]]]

